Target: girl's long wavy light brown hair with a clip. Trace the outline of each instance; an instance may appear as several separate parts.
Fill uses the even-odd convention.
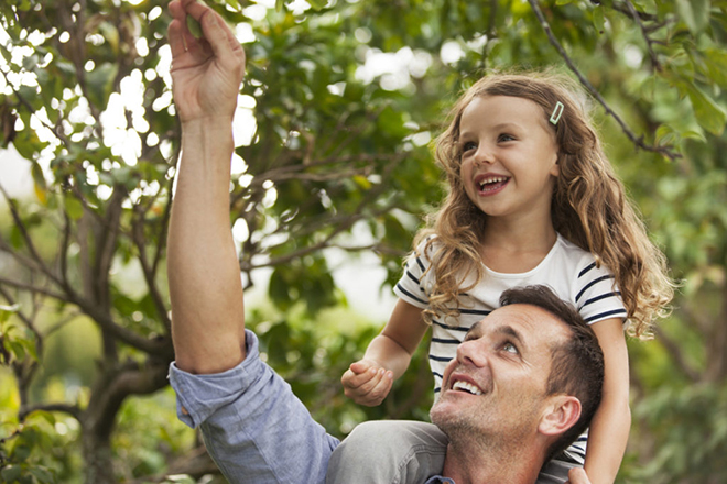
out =
[[[560,176],[555,178],[551,205],[553,226],[564,238],[590,252],[598,265],[614,273],[628,311],[629,334],[647,339],[652,322],[666,316],[674,285],[666,274],[665,257],[649,240],[643,222],[616,177],[582,106],[584,102],[576,99],[580,94],[574,81],[557,74],[493,74],[475,82],[455,105],[449,127],[435,145],[436,161],[449,184],[448,194],[440,209],[427,218],[427,227],[414,239],[414,248],[426,240],[424,252],[437,248],[436,253],[427,254],[432,260],[430,270],[436,275],[430,309],[425,311],[430,320],[458,316],[452,304],[458,306],[458,295],[470,290],[484,276],[479,241],[488,217],[465,193],[458,148],[462,113],[474,98],[482,96],[529,99],[543,109],[546,120],[556,103],[563,103],[557,124],[546,123],[554,130],[558,146]],[[436,238],[428,237],[432,233]],[[460,287],[469,275],[476,282]]]

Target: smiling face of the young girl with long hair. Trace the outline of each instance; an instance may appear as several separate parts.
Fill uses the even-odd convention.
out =
[[[459,124],[460,177],[490,217],[546,217],[558,175],[555,134],[533,101],[476,97]]]

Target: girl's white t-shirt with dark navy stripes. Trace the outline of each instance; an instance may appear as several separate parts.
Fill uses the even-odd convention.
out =
[[[424,272],[431,265],[428,256],[436,254],[437,243],[424,254],[426,242],[419,246],[416,255],[408,261],[403,276],[394,293],[412,306],[428,307],[430,294],[434,287],[434,274]],[[453,320],[435,319],[432,322],[430,366],[434,375],[434,392],[438,395],[442,375],[449,360],[456,355],[459,344],[469,328],[499,307],[500,294],[517,286],[550,286],[563,300],[578,309],[586,322],[594,323],[609,318],[626,319],[627,312],[621,301],[614,275],[604,266],[596,267],[594,256],[567,241],[561,234],[545,258],[538,266],[522,274],[503,274],[484,266],[480,283],[459,296],[460,316]],[[469,282],[463,284],[468,286]],[[436,396],[435,395],[435,396]],[[571,449],[569,449],[571,450]]]

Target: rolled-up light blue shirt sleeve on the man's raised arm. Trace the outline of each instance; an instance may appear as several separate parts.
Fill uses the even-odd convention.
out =
[[[223,373],[194,375],[170,365],[178,418],[200,428],[207,451],[230,484],[323,483],[339,440],[260,360],[251,331],[246,331],[246,346],[247,358]]]

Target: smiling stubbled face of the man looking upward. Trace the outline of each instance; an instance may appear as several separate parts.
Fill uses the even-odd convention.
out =
[[[431,411],[451,440],[493,441],[534,435],[546,400],[552,349],[568,329],[530,305],[504,306],[475,324],[457,348]],[[495,439],[498,440],[498,439]]]

